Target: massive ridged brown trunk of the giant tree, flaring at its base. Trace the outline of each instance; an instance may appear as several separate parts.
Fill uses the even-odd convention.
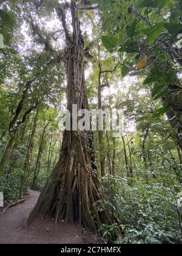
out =
[[[67,51],[67,108],[72,113],[72,104],[78,110],[88,109],[84,79],[84,41],[81,36],[78,11],[71,2],[73,35],[66,27],[64,10],[58,9],[58,16],[66,34]],[[65,131],[59,161],[44,186],[38,202],[27,219],[27,226],[38,216],[55,216],[56,222],[78,221],[96,231],[101,224],[95,202],[99,197],[96,176],[92,132]]]

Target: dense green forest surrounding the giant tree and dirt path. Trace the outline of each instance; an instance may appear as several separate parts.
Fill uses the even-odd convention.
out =
[[[98,230],[116,243],[181,243],[182,2],[0,4],[5,202],[22,198],[27,187],[42,190],[59,160],[59,111],[66,108],[68,88],[65,49],[74,34],[72,19],[79,16],[89,108],[122,108],[125,117],[121,138],[93,132],[98,191],[106,195],[95,206],[112,216]],[[70,14],[73,8],[78,16]]]

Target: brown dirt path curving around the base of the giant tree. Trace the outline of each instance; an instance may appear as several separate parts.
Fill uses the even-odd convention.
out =
[[[29,190],[25,202],[0,215],[0,244],[82,244],[81,229],[52,219],[38,219],[29,230],[22,229],[25,218],[32,210],[39,192]]]

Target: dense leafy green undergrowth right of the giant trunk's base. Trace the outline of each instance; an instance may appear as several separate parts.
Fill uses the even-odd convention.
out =
[[[170,187],[164,187],[162,181],[147,184],[139,179],[124,180],[110,176],[106,176],[103,182],[108,196],[107,207],[115,209],[114,214],[120,219],[120,228],[124,232],[124,237],[117,243],[182,243],[177,197]],[[101,204],[99,202],[99,207]],[[117,235],[118,228],[116,224],[101,226],[104,235],[110,238]]]

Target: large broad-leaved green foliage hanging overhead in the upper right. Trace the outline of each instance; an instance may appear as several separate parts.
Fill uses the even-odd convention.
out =
[[[118,2],[112,3],[112,8]],[[110,18],[105,13],[106,9],[110,13]],[[169,49],[172,49],[172,44],[178,40],[177,35],[182,31],[180,9],[179,1],[135,1],[134,4],[130,4],[126,12],[121,13],[120,19],[118,19],[120,20],[120,29],[113,29],[115,32],[107,29],[109,34],[104,36],[110,44],[112,44],[112,40],[114,41],[110,48],[105,41],[103,41],[103,45],[110,53],[117,52],[120,55],[121,62],[123,62],[121,65],[123,77],[135,68],[145,69],[140,73],[140,76],[146,78],[144,85],[150,86],[150,84],[155,83],[152,90],[152,97],[155,100],[164,100],[164,96],[170,94],[169,85],[174,83],[174,80],[178,80],[177,73],[180,67],[175,66],[174,68],[174,59]],[[117,14],[118,11],[115,11],[115,16]],[[104,8],[103,26],[106,17],[107,27],[109,25],[110,28],[114,27],[112,21],[114,13],[112,13],[109,3],[106,3]],[[132,23],[127,20],[129,18]],[[126,21],[125,25],[123,20]],[[123,34],[124,29],[126,29],[125,34]],[[117,49],[116,38],[120,38],[121,48],[119,50]],[[141,59],[140,62],[138,62],[139,59]],[[133,68],[134,66],[135,68]],[[162,109],[163,111],[161,111]],[[175,107],[172,109],[175,110]],[[164,115],[164,113],[169,112],[169,109],[161,108],[159,112],[160,115]]]

